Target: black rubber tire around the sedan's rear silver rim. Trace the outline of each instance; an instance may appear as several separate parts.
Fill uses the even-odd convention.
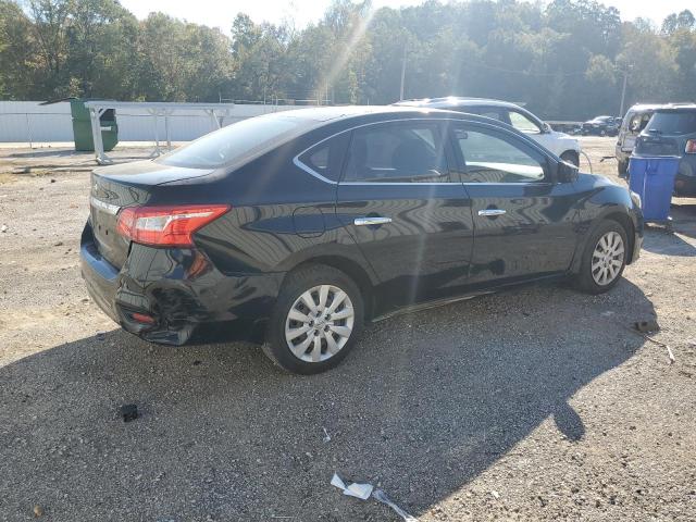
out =
[[[345,345],[333,356],[320,362],[308,362],[300,359],[290,350],[285,338],[286,323],[289,321],[288,313],[296,301],[307,290],[321,285],[331,285],[348,295],[352,303],[353,324],[352,332],[348,336]],[[358,285],[344,272],[323,264],[304,265],[288,274],[281,288],[281,294],[271,314],[266,328],[266,338],[263,345],[263,352],[275,364],[290,373],[311,375],[321,373],[338,365],[348,355],[356,344],[356,339],[362,333],[364,319],[364,304]],[[291,323],[287,323],[291,324]],[[310,331],[310,334],[312,332]],[[300,336],[300,338],[308,338]],[[321,341],[322,356],[328,356],[326,340]],[[313,345],[310,345],[310,347]],[[308,348],[309,349],[309,348]],[[310,350],[311,351],[311,350]],[[306,355],[309,357],[309,355]]]

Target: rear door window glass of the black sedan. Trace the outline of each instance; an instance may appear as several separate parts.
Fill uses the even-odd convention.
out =
[[[355,129],[344,182],[449,182],[439,126],[408,122]]]

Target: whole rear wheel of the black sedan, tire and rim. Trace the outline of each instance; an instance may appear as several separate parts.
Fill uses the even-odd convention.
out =
[[[331,266],[304,266],[283,285],[263,351],[288,372],[320,373],[348,355],[362,321],[362,296],[350,277]]]

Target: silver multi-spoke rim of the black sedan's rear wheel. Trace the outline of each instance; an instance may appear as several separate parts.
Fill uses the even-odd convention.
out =
[[[285,321],[285,340],[295,357],[322,362],[338,353],[352,334],[350,297],[334,285],[310,288],[298,297]]]

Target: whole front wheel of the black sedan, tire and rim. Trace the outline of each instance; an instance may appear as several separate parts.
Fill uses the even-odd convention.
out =
[[[604,221],[593,233],[575,276],[576,286],[588,294],[602,294],[621,278],[626,265],[629,241],[623,226]]]

